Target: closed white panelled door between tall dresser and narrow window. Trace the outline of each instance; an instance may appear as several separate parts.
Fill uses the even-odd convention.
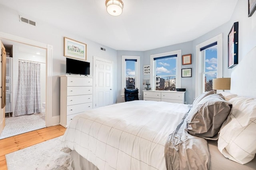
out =
[[[95,104],[94,108],[113,104],[112,62],[95,60]]]

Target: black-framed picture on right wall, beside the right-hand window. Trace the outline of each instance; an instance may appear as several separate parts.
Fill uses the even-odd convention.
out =
[[[228,33],[228,68],[238,64],[238,22],[235,22]]]

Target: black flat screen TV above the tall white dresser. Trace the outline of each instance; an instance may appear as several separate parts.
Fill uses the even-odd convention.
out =
[[[66,58],[66,73],[89,75],[90,63],[77,59]]]

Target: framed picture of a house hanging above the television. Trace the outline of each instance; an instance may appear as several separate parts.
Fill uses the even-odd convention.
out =
[[[64,37],[64,56],[86,60],[86,44]]]

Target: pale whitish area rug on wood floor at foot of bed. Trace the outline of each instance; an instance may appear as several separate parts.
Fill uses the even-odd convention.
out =
[[[8,170],[68,170],[70,154],[61,151],[62,136],[6,154]]]

